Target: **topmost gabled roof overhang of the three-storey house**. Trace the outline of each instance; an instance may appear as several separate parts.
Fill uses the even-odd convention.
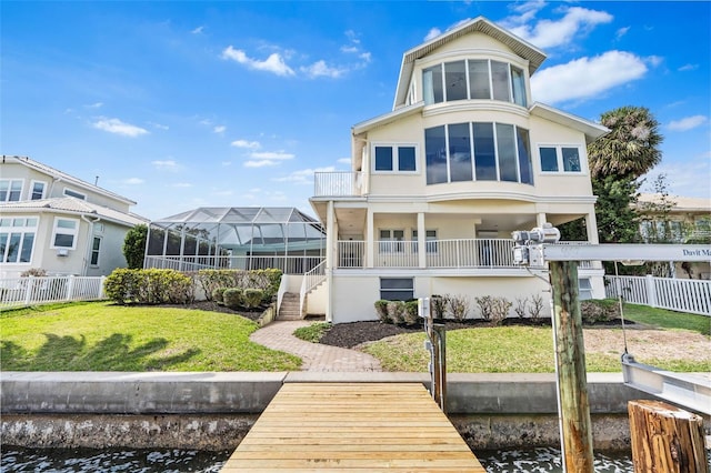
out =
[[[529,74],[533,74],[533,72],[535,72],[535,70],[545,60],[545,53],[533,44],[522,40],[515,34],[511,34],[509,31],[495,26],[485,18],[478,17],[450,31],[445,31],[443,34],[440,34],[439,37],[433,38],[430,41],[427,41],[415,48],[412,48],[409,51],[405,51],[405,53],[402,56],[402,66],[400,67],[400,77],[398,78],[398,89],[395,90],[393,109],[401,107],[405,102],[408,87],[410,85],[410,77],[412,76],[412,70],[414,69],[414,61],[428,56],[435,49],[441,48],[442,46],[455,39],[475,31],[482,32],[498,41],[501,41],[503,44],[508,46],[515,54],[528,60]]]

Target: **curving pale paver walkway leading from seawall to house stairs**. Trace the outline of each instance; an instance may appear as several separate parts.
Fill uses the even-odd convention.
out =
[[[292,335],[294,330],[311,323],[302,320],[276,321],[259,329],[249,339],[269,349],[301,358],[302,371],[382,371],[380,362],[367,353],[304,342]]]

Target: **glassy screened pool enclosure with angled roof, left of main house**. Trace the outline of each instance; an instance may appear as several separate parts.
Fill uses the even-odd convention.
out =
[[[323,260],[324,246],[321,224],[294,208],[203,207],[150,223],[144,266],[303,274]]]

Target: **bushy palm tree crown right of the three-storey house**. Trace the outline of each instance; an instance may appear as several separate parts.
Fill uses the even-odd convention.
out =
[[[610,133],[588,145],[590,173],[593,179],[617,175],[637,179],[657,165],[663,137],[659,123],[644,107],[621,107],[600,115]]]

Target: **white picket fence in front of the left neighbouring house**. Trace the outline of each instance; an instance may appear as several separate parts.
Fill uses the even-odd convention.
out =
[[[0,309],[104,299],[106,276],[27,276],[0,280]]]

